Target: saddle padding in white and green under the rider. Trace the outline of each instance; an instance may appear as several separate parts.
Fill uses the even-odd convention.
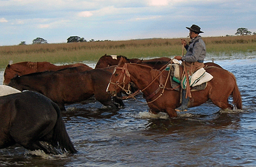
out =
[[[181,81],[183,79],[183,66],[180,64],[170,64],[165,70],[170,70],[170,83],[176,91],[180,91]],[[200,91],[207,87],[207,82],[211,80],[213,76],[205,71],[204,68],[196,71],[192,76],[189,76],[190,91]],[[186,80],[185,80],[186,82]],[[186,84],[185,84],[186,85]]]

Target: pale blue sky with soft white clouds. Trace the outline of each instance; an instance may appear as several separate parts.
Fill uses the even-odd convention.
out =
[[[192,24],[202,37],[256,32],[255,0],[0,0],[0,46],[36,38],[66,43],[187,38]]]

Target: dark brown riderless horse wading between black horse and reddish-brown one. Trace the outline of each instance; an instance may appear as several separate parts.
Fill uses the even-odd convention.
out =
[[[61,110],[65,110],[65,104],[88,100],[93,95],[103,105],[117,107],[111,101],[111,95],[105,92],[111,75],[103,69],[75,73],[45,71],[16,76],[11,79],[9,86],[20,91],[32,90],[44,94]],[[123,105],[122,101],[118,102],[120,106]]]

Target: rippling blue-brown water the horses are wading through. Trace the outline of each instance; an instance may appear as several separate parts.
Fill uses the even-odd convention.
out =
[[[236,76],[243,110],[207,102],[169,119],[149,114],[141,95],[119,110],[72,104],[62,115],[77,154],[51,156],[15,145],[0,150],[0,166],[256,166],[256,59],[215,63]]]

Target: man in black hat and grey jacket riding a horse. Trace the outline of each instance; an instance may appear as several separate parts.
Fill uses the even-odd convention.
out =
[[[198,25],[191,25],[191,27],[186,27],[189,30],[189,37],[191,41],[187,44],[187,42],[184,39],[181,39],[181,44],[186,48],[187,52],[186,55],[176,56],[174,57],[177,60],[183,61],[184,69],[186,69],[185,72],[188,73],[189,76],[191,76],[193,73],[195,73],[198,69],[204,67],[204,58],[206,55],[206,47],[205,43],[202,40],[202,37],[199,35],[199,33],[204,33],[201,31],[201,28]],[[181,81],[182,83],[186,80],[188,75],[184,75]],[[187,105],[189,101],[190,95],[190,89],[181,86],[182,89],[182,104],[180,107],[176,108],[175,110],[178,112],[187,111]]]

